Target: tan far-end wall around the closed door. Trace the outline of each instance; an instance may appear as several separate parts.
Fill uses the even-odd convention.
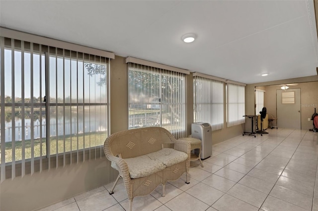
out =
[[[245,88],[245,112],[254,113],[254,100],[252,98],[252,93],[255,87],[264,87],[264,106],[267,109],[267,113],[274,114],[276,116],[276,90],[279,86],[272,86],[278,84],[291,84],[298,83],[297,86],[290,86],[290,88],[300,88],[301,89],[301,125],[302,129],[313,128],[313,121],[308,121],[308,118],[314,113],[314,106],[318,106],[318,76],[308,76],[301,78],[292,78],[279,81],[269,81],[263,83],[249,84]],[[317,107],[318,112],[318,107]]]

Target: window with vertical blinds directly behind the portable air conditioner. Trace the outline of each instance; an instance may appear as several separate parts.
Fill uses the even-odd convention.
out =
[[[194,122],[208,122],[212,130],[224,125],[224,81],[193,73]]]

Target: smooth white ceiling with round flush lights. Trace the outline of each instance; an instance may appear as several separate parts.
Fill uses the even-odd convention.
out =
[[[317,75],[313,0],[0,0],[0,26],[246,84]]]

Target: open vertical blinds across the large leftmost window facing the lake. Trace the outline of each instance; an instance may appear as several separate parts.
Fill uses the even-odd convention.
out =
[[[0,37],[0,63],[1,181],[102,156],[108,58]]]

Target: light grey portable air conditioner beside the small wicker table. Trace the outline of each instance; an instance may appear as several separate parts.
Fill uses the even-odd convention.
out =
[[[212,127],[209,123],[197,122],[191,125],[191,137],[201,140],[201,159],[212,155]],[[196,155],[199,151],[195,150]]]

